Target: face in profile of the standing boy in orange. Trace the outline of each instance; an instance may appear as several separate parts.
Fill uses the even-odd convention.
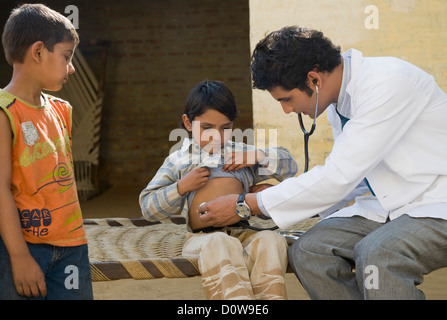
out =
[[[39,75],[42,89],[59,91],[68,81],[68,76],[75,72],[72,58],[76,46],[74,42],[59,42],[54,45],[53,52],[43,48],[42,69]]]

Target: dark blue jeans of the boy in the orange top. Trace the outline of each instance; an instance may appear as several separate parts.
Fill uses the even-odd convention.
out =
[[[40,265],[47,286],[47,296],[37,299],[93,299],[87,245],[56,247],[28,243],[31,255]],[[0,238],[0,300],[28,299],[15,288],[9,254]]]

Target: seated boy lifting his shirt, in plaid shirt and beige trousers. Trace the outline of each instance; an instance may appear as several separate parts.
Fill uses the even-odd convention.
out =
[[[182,116],[192,139],[166,158],[140,194],[140,206],[150,221],[185,216],[189,232],[183,255],[198,258],[208,299],[286,299],[287,243],[281,235],[241,226],[214,228],[199,220],[203,202],[243,195],[258,182],[281,181],[297,172],[284,148],[262,151],[229,140],[236,115],[233,94],[222,82],[198,83]]]

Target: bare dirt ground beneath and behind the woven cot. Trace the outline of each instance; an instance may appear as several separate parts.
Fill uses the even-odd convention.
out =
[[[141,217],[138,195],[143,188],[144,186],[115,187],[89,201],[81,202],[84,218]],[[289,299],[309,299],[294,274],[286,275],[286,286]],[[447,268],[427,275],[420,289],[428,300],[447,300]],[[200,277],[94,282],[93,293],[97,300],[205,299]]]

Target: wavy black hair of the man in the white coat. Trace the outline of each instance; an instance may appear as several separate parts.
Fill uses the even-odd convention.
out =
[[[312,95],[307,83],[309,71],[331,72],[341,63],[340,47],[320,31],[297,26],[268,34],[253,51],[253,88],[285,90],[298,88]]]

